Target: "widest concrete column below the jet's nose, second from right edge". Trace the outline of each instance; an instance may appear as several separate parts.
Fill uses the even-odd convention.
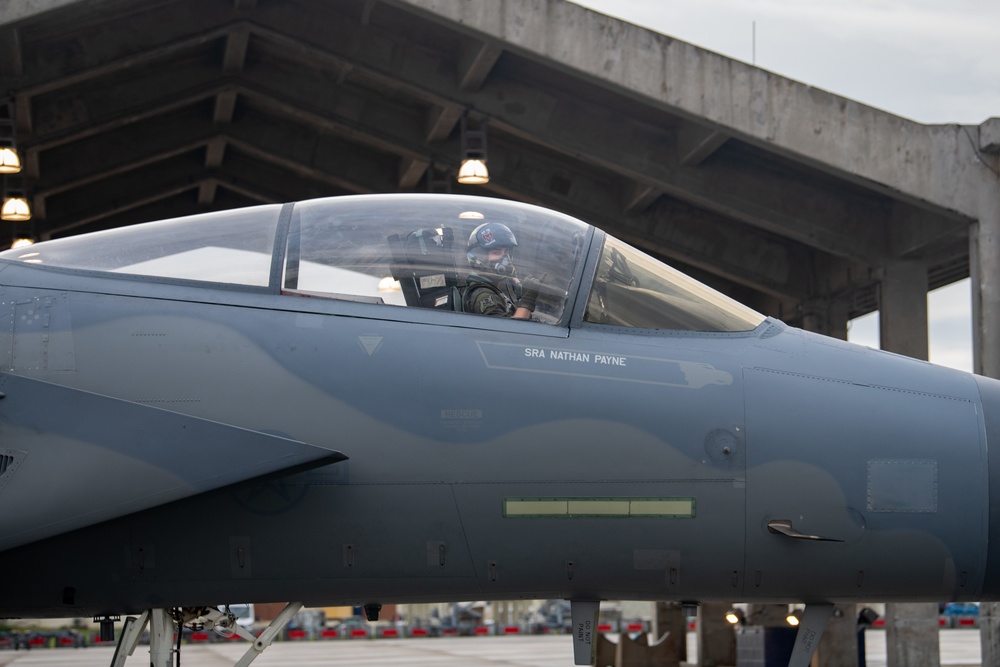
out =
[[[938,641],[937,604],[887,604],[885,649],[888,667],[939,666],[941,644]]]

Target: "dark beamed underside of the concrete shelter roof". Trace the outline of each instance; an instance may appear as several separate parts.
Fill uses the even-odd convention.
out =
[[[794,324],[874,309],[887,262],[925,263],[931,287],[968,272],[954,212],[407,0],[50,2],[0,25],[34,210],[17,224],[38,238],[431,190],[577,216]],[[488,128],[484,186],[454,182],[463,115]]]

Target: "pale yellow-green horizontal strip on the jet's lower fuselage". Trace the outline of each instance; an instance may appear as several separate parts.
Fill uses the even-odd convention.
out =
[[[692,519],[694,498],[505,498],[509,519]]]

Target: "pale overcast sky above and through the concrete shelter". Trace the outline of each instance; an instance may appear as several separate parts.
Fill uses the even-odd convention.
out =
[[[1000,116],[1000,0],[573,0],[921,123]],[[929,298],[931,361],[972,370],[969,282]],[[878,347],[878,316],[849,338]]]

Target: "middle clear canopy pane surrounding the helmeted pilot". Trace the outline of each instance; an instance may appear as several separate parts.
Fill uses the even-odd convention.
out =
[[[541,280],[533,319],[566,314],[592,229],[537,206],[452,195],[344,197],[295,205],[282,289],[286,293],[463,310],[468,242],[483,224],[513,233],[511,277]]]

